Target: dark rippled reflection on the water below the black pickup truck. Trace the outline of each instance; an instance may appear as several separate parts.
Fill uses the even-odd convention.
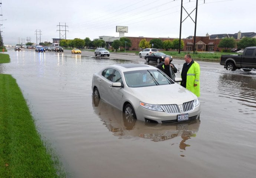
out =
[[[250,75],[223,73],[219,76],[219,96],[235,99],[241,105],[256,108],[256,78]],[[252,110],[252,111],[255,111]]]

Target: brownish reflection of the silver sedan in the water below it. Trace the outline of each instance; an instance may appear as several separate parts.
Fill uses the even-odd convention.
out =
[[[171,124],[147,123],[133,117],[125,117],[122,111],[95,96],[92,98],[94,112],[104,122],[108,130],[120,138],[145,138],[157,142],[181,136],[179,147],[185,149],[187,145],[184,142],[195,137],[199,129],[199,119]]]

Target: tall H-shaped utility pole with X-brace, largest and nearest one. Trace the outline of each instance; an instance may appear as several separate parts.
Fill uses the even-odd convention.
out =
[[[204,1],[205,2],[205,1]],[[191,18],[190,14],[194,11],[191,11],[191,13],[188,13],[186,9],[183,7],[183,0],[181,0],[181,14],[180,14],[180,41],[179,41],[179,54],[180,54],[180,46],[181,46],[181,24],[184,22],[184,20],[187,19],[187,17],[190,17],[190,19],[195,23],[195,30],[194,30],[194,45],[193,45],[193,53],[195,53],[195,48],[196,48],[196,24],[197,24],[197,6],[198,6],[198,0],[196,0],[196,17],[195,21]],[[182,21],[182,9],[186,11],[188,16]]]

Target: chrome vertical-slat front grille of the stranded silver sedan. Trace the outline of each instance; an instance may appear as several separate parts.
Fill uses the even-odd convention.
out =
[[[164,112],[168,114],[184,113],[194,109],[194,100],[183,103],[182,107],[178,105],[160,105]]]

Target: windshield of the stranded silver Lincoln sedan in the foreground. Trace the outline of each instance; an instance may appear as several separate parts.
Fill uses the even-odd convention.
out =
[[[135,70],[124,72],[126,84],[131,88],[174,83],[160,70]]]

